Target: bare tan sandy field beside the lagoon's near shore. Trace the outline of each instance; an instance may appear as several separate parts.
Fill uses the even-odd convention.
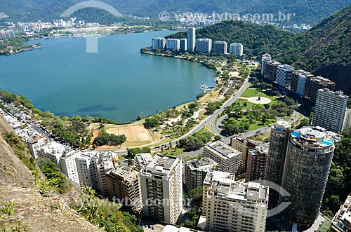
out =
[[[106,129],[106,132],[114,135],[126,135],[126,142],[152,142],[152,136],[143,124],[115,126]]]

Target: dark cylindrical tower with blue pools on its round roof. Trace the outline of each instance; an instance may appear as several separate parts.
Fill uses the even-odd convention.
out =
[[[289,223],[310,227],[317,219],[334,153],[334,142],[323,128],[294,130],[286,149],[282,187],[291,205],[282,212]]]

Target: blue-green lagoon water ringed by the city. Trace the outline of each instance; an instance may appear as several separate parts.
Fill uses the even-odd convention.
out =
[[[196,100],[215,72],[196,62],[140,53],[172,31],[105,36],[98,53],[85,38],[42,39],[41,49],[0,56],[0,88],[54,114],[133,121]]]

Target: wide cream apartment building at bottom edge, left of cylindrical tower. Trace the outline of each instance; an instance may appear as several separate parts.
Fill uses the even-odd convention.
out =
[[[234,182],[229,172],[210,171],[203,186],[202,214],[206,231],[265,231],[269,188]]]

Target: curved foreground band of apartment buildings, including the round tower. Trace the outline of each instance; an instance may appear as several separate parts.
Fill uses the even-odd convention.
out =
[[[318,90],[317,101],[324,92],[331,94],[324,101],[337,101],[336,94],[326,89]],[[312,226],[319,215],[335,144],[340,141],[335,132],[319,125],[293,130],[289,123],[278,121],[270,128],[268,143],[232,137],[231,144],[206,144],[204,157],[185,163],[176,157],[138,153],[130,166],[118,163],[116,153],[76,151],[3,114],[28,144],[33,158],[48,158],[76,186],[91,186],[143,217],[178,224],[186,206],[183,187],[192,191],[202,186],[200,221],[205,231],[214,232],[265,231],[269,209],[279,205],[284,205],[280,219],[293,228]],[[246,182],[237,180],[243,178]],[[283,190],[288,194],[282,194]],[[347,231],[350,215],[348,199],[333,219],[334,231]]]

